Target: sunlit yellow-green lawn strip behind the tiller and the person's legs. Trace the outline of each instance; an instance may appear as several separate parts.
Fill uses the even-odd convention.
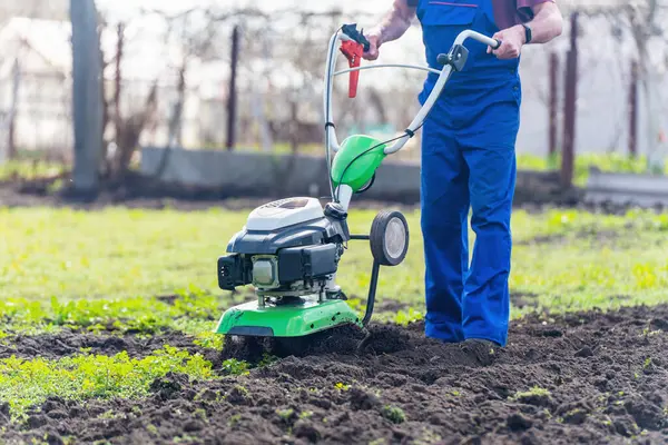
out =
[[[121,315],[136,324],[143,323],[143,316],[149,317],[149,324],[160,317],[203,319],[229,304],[229,294],[217,288],[216,259],[225,254],[227,240],[244,225],[246,216],[247,211],[220,209],[2,209],[0,293],[6,308],[0,309],[18,310],[7,307],[16,298],[41,301],[41,307],[45,303],[50,307],[57,324],[73,320],[86,326]],[[367,233],[373,216],[373,211],[353,211],[352,231]],[[407,212],[407,218],[412,230],[410,253],[402,265],[382,269],[379,298],[390,297],[420,308],[424,264],[418,211]],[[668,214],[515,211],[512,229],[515,246],[510,285],[515,291],[538,294],[546,308],[589,308],[607,305],[611,296],[619,295],[628,295],[636,303],[656,301],[668,286],[664,241]],[[601,231],[615,236],[602,243],[596,239]],[[548,236],[566,239],[527,244]],[[371,259],[364,243],[350,244],[340,273],[348,295],[366,295]],[[151,299],[175,291],[185,295],[188,288],[199,295],[195,303],[181,299],[171,307]],[[78,303],[61,307],[51,303],[52,297],[60,305],[70,299]],[[96,304],[96,299],[102,303]],[[144,309],[147,301],[154,308],[150,314]],[[76,310],[68,312],[67,307]],[[30,313],[22,312],[21,316],[30,317]],[[86,322],[77,320],[79,316]]]

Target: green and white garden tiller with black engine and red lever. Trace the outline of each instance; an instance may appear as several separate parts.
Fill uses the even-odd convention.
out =
[[[367,190],[386,156],[399,151],[422,126],[424,118],[453,72],[466,62],[464,41],[473,38],[498,48],[500,41],[474,31],[463,31],[446,55],[439,57],[441,70],[410,65],[361,67],[369,41],[356,24],[340,28],[330,40],[324,88],[325,160],[331,199],[296,197],[266,204],[253,210],[246,226],[233,236],[229,255],[218,259],[218,285],[225,290],[252,285],[256,299],[223,314],[216,332],[242,337],[302,337],[345,324],[364,328],[371,319],[381,266],[396,266],[409,248],[409,226],[395,210],[380,211],[369,235],[351,235],[346,217],[351,198]],[[337,48],[338,47],[338,48]],[[350,67],[335,71],[337,49]],[[356,96],[360,70],[403,67],[434,72],[439,79],[406,130],[380,141],[364,135],[337,142],[332,121],[332,83],[335,76],[350,73],[348,97]],[[333,156],[333,160],[332,158]],[[360,317],[346,303],[336,284],[340,260],[351,240],[366,240],[373,267],[366,309]]]

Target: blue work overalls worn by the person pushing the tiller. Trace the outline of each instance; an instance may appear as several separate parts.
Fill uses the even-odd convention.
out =
[[[492,37],[492,0],[420,0],[428,63],[472,29]],[[519,130],[519,59],[499,60],[487,46],[464,42],[469,59],[453,72],[422,134],[425,335],[444,342],[483,338],[505,346],[510,298],[510,215]],[[420,102],[438,76],[430,73]],[[469,256],[469,211],[475,233]]]

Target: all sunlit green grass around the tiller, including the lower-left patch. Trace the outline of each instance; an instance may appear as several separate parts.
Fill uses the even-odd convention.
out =
[[[0,342],[17,332],[32,335],[62,328],[151,335],[165,328],[191,334],[203,347],[219,348],[212,334],[220,313],[247,298],[217,288],[216,259],[248,211],[181,212],[108,208],[0,209]],[[351,231],[367,233],[375,211],[353,210]],[[405,261],[383,268],[379,306],[392,299],[403,310],[375,319],[406,324],[423,316],[420,215],[406,211],[411,246]],[[511,293],[531,294],[513,306],[529,310],[613,308],[668,301],[668,214],[629,211],[601,216],[577,210],[512,218]],[[471,246],[474,235],[471,234]],[[351,241],[338,283],[364,309],[371,253]],[[157,298],[176,295],[174,300]],[[150,352],[149,352],[150,353]],[[58,360],[0,360],[0,399],[14,417],[49,395],[65,398],[140,397],[168,370],[210,377],[210,364],[185,353],[153,352],[141,359],[82,354]],[[243,375],[244,363],[227,362],[222,374]]]

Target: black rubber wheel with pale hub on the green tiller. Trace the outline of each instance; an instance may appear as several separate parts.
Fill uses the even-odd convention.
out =
[[[409,251],[409,222],[401,211],[382,210],[369,235],[371,253],[382,266],[396,266]]]

